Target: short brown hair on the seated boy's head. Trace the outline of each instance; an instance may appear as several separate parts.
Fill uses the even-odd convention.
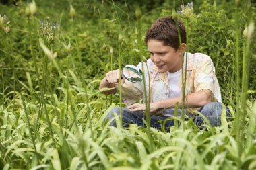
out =
[[[186,30],[183,23],[178,19],[179,32],[181,34],[181,43],[186,43]],[[179,34],[176,22],[172,17],[160,17],[152,24],[146,33],[145,42],[155,39],[162,41],[166,46],[172,46],[174,50],[178,50],[180,46]]]

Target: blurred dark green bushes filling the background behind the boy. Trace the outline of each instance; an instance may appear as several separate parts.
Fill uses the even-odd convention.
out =
[[[126,5],[124,5],[126,3]],[[140,7],[143,13],[141,18],[141,33],[145,34],[146,30],[158,17],[162,15],[171,15],[172,9],[178,10],[178,7],[182,4],[181,1],[176,2],[174,7],[174,1],[139,1],[133,3],[131,1],[74,1],[72,5],[76,9],[76,18],[73,21],[69,16],[69,5],[71,2],[56,1],[55,3],[49,3],[48,1],[38,1],[38,13],[36,15],[37,22],[34,22],[33,27],[39,28],[40,19],[46,19],[49,17],[51,20],[59,23],[59,42],[55,42],[53,46],[57,48],[58,59],[65,65],[65,54],[63,55],[63,46],[59,46],[64,40],[65,43],[70,40],[71,42],[77,42],[79,50],[73,52],[73,60],[75,65],[72,66],[72,70],[84,79],[84,76],[92,79],[100,78],[106,72],[104,66],[102,66],[102,46],[106,44],[108,52],[110,47],[114,49],[114,59],[117,61],[117,48],[119,47],[118,37],[123,36],[125,38],[125,48],[122,54],[122,65],[127,62],[136,65],[140,58],[136,52],[131,49],[136,48],[134,41],[135,37],[135,9]],[[26,16],[24,15],[25,1],[18,1],[18,6],[14,6],[9,2],[8,5],[2,5],[1,11],[7,16],[11,16],[11,25],[15,26],[11,30],[11,39],[15,44],[13,46],[13,53],[15,53],[15,63],[17,67],[30,68],[33,62],[30,60],[31,55],[28,48],[28,28],[26,26]],[[115,4],[115,5],[113,5]],[[185,2],[186,4],[186,2]],[[216,67],[216,74],[220,85],[222,87],[222,97],[224,103],[231,104],[230,98],[234,97],[234,94],[227,93],[235,91],[234,83],[234,26],[239,24],[239,34],[243,35],[245,24],[247,24],[247,15],[243,11],[239,13],[239,21],[236,23],[234,20],[234,3],[232,1],[215,1],[215,4],[206,3],[206,1],[194,1],[193,9],[196,14],[196,19],[189,20],[189,52],[202,52],[211,56]],[[243,5],[243,6],[242,6]],[[241,9],[246,8],[247,3],[241,3]],[[223,7],[230,6],[224,10]],[[168,11],[168,9],[170,9]],[[164,10],[164,11],[163,11]],[[253,7],[255,11],[255,7]],[[244,10],[246,11],[246,10]],[[251,11],[252,18],[255,18],[255,13]],[[2,14],[3,15],[3,14]],[[182,18],[181,18],[182,19]],[[21,22],[24,21],[24,22]],[[112,21],[112,22],[111,22]],[[125,21],[125,22],[124,22]],[[183,19],[184,21],[184,19]],[[102,28],[102,29],[98,29]],[[38,30],[33,31],[33,44],[38,44]],[[5,38],[4,35],[1,35]],[[62,40],[61,40],[62,39]],[[100,43],[99,43],[100,42]],[[6,46],[5,41],[1,41],[1,46]],[[249,88],[255,89],[255,42],[253,42],[253,48],[251,48],[251,69],[249,75]],[[243,39],[239,42],[241,48]],[[27,47],[27,48],[26,48]],[[126,48],[127,47],[127,48]],[[143,55],[148,57],[146,46],[143,45]],[[17,51],[15,51],[17,50]],[[243,49],[240,50],[242,55]],[[60,52],[59,52],[60,51]],[[79,58],[82,60],[84,66],[77,66],[77,52],[79,52]],[[107,52],[106,52],[107,53]],[[254,54],[254,55],[253,55]],[[106,54],[108,55],[108,54]],[[11,62],[8,62],[8,57],[1,51],[1,63],[4,63],[6,67],[10,67]],[[134,58],[134,59],[133,59]],[[17,61],[17,62],[16,62]],[[254,62],[253,62],[254,61]],[[118,62],[114,62],[114,68],[117,69]],[[3,65],[3,64],[2,64]],[[94,69],[92,68],[98,68]],[[80,68],[79,68],[80,67]],[[79,69],[87,68],[86,74],[79,71]],[[109,71],[109,67],[107,70]],[[11,73],[6,70],[5,75]],[[17,76],[22,79],[24,72],[19,72]],[[9,76],[7,76],[9,77]],[[6,81],[10,81],[6,80]],[[11,84],[11,83],[9,83]],[[9,85],[11,88],[11,85]],[[255,95],[252,96],[253,98]]]

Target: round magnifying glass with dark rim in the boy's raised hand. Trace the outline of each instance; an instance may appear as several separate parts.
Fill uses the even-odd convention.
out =
[[[122,76],[132,83],[140,83],[142,81],[143,73],[141,69],[134,65],[125,65],[122,69]]]

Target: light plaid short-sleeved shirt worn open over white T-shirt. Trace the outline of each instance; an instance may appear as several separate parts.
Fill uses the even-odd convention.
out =
[[[218,84],[218,80],[215,75],[215,67],[210,56],[201,53],[185,53],[183,63],[183,74],[181,74],[179,83],[181,91],[180,96],[182,96],[182,87],[183,84],[185,84],[185,95],[195,93],[202,89],[209,89],[213,94],[212,101],[221,102],[220,86]],[[123,101],[125,104],[131,105],[132,103],[137,103],[139,99],[143,99],[143,103],[146,103],[145,101],[148,101],[149,98],[150,103],[168,99],[170,93],[168,73],[160,73],[156,65],[154,65],[150,59],[147,60],[147,63],[143,62],[143,69],[141,62],[137,67],[144,70],[146,94],[143,93],[143,83],[131,83],[126,80],[121,87]],[[183,81],[184,83],[182,82],[182,75],[185,80]],[[116,86],[119,90],[118,83]]]

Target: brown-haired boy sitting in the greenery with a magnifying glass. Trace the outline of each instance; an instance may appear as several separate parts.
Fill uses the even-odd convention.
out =
[[[177,26],[181,35],[181,44]],[[183,85],[185,85],[185,113],[191,114],[193,110],[198,110],[210,120],[212,126],[221,123],[222,99],[212,60],[205,54],[187,53],[185,26],[179,20],[177,26],[172,17],[162,17],[157,19],[146,33],[145,42],[150,59],[146,64],[138,65],[140,68],[144,65],[144,70],[147,68],[146,65],[148,66],[148,70],[144,71],[146,93],[143,92],[142,83],[131,83],[122,79],[123,101],[127,105],[127,108],[123,108],[124,127],[129,127],[129,124],[145,126],[143,118],[145,118],[146,104],[137,103],[137,100],[143,98],[145,102],[147,98],[150,102],[150,126],[168,130],[174,125],[170,117],[174,116],[175,104],[177,103],[179,108],[183,106]],[[106,94],[118,91],[119,70],[106,73],[106,77],[100,82],[100,89],[103,87],[117,87],[106,91]],[[113,113],[119,115],[119,107],[113,108],[105,120],[111,120],[110,125],[116,126]],[[181,116],[181,109],[178,110],[178,116]],[[194,121],[197,126],[203,123],[200,116],[196,116]],[[165,126],[162,127],[163,125]]]

